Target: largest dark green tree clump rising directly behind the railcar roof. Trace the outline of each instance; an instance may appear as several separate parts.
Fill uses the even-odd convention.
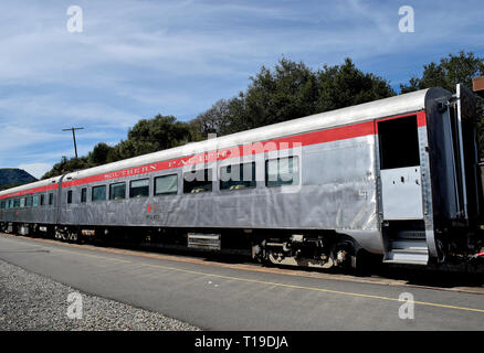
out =
[[[233,133],[396,95],[387,81],[356,68],[350,58],[318,71],[282,58],[250,79],[245,92],[193,120],[201,135]]]

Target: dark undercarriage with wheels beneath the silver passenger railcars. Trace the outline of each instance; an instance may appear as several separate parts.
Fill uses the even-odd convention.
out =
[[[1,223],[0,231],[71,243],[149,244],[159,247],[244,254],[263,264],[298,267],[355,267],[358,244],[335,232],[323,234],[260,229],[186,229]],[[282,234],[282,235],[281,235]]]

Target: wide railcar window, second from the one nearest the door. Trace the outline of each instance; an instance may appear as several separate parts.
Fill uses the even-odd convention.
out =
[[[255,162],[220,168],[220,190],[255,188]]]

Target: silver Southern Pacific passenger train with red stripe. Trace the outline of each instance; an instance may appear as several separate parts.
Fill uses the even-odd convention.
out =
[[[0,226],[325,268],[444,263],[481,247],[475,118],[461,85],[409,93],[7,190]]]

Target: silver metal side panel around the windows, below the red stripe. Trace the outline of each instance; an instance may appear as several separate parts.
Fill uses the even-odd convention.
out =
[[[211,192],[185,194],[182,169],[171,169],[105,182],[63,188],[62,224],[140,225],[170,227],[245,228],[324,228],[377,229],[375,184],[375,136],[338,140],[303,147],[298,185],[267,188],[264,180],[255,189],[220,191],[214,180]],[[287,156],[297,156],[291,152]],[[272,151],[257,156],[256,170],[264,170],[266,159],[281,154]],[[203,164],[218,173],[220,167],[245,160],[227,159]],[[178,194],[154,196],[154,178],[178,174]],[[129,183],[149,178],[148,197],[130,199]],[[126,183],[125,200],[92,201],[92,188]],[[87,188],[87,202],[81,203],[81,190]],[[72,204],[66,192],[73,191]]]

